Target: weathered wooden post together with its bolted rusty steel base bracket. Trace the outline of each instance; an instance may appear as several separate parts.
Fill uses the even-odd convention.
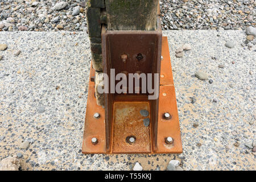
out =
[[[89,0],[86,16],[92,68],[82,152],[182,152],[167,39],[162,43],[159,1]],[[99,93],[98,87],[106,86],[105,81],[113,83],[112,69],[114,78],[124,73],[130,79],[130,74],[137,73],[141,85],[129,82],[127,93],[113,93],[111,86],[109,93]],[[101,73],[106,73],[108,80]],[[143,80],[143,74],[152,75],[152,80]],[[155,93],[142,92],[142,82],[158,82],[154,90],[159,97],[149,99]],[[114,86],[117,83],[114,80]]]

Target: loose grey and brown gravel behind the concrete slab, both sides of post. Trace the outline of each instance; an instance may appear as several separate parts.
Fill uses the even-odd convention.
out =
[[[61,23],[66,31],[86,31],[86,15],[82,10],[86,2],[2,0],[0,29],[17,31],[22,26],[26,28],[20,31],[59,31],[56,23]],[[163,30],[245,30],[256,22],[255,1],[251,0],[163,0],[159,3]],[[255,30],[253,32],[255,36]]]

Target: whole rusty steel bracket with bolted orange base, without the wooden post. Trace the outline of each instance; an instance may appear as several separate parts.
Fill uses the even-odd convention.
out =
[[[109,51],[108,53],[103,53],[105,55],[104,72],[108,73],[110,68],[115,68],[117,73],[126,70],[127,72],[159,72],[159,99],[154,101],[147,100],[147,94],[105,94],[105,103],[107,104],[104,109],[96,104],[93,79],[95,71],[91,67],[82,153],[179,154],[182,152],[168,40],[167,37],[162,38],[161,36],[159,38],[162,32],[158,31],[148,32],[146,35],[138,35],[138,32],[133,32],[134,39],[131,39],[131,36],[131,40],[129,40],[129,36],[127,36],[127,39],[125,38],[127,42],[123,47],[125,48],[126,46],[125,52],[122,52],[123,43],[119,44],[118,41],[115,42],[115,40],[110,41],[108,39],[108,36],[111,38],[114,32],[107,31],[108,33],[102,36],[105,50]],[[131,32],[122,31],[116,33],[119,35],[128,33],[130,35]],[[145,38],[147,34],[150,35],[149,39]],[[113,36],[113,38],[115,37],[117,38],[118,36]],[[122,40],[122,36],[119,37],[119,40]],[[141,43],[148,40],[148,44],[143,44],[147,47],[143,48],[141,45],[138,45],[138,47],[129,46],[132,42],[140,43],[140,40],[142,41]],[[152,46],[152,42],[156,46]],[[160,43],[160,46],[157,46],[158,43]],[[159,47],[162,48],[162,53],[159,53]],[[150,51],[147,52],[147,50]],[[161,55],[162,59],[160,59]],[[148,60],[149,57],[152,57],[152,59],[149,59],[150,63],[147,62],[149,65],[143,65],[143,59]],[[133,63],[135,59],[138,61],[137,64],[125,65],[125,62],[121,64],[114,62],[116,60],[125,60],[127,63]],[[141,60],[142,62],[139,62]],[[138,70],[138,68],[143,69]],[[139,113],[142,109],[148,110],[147,117]],[[146,118],[150,119],[148,127],[143,125],[143,120]]]

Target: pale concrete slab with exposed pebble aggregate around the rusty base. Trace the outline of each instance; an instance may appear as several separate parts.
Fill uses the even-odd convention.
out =
[[[255,46],[252,51],[241,46],[243,31],[165,31],[163,35],[170,44],[183,154],[81,154],[88,36],[0,32],[0,44],[8,46],[0,51],[0,159],[21,153],[22,170],[130,170],[135,162],[144,170],[166,170],[171,159],[180,160],[185,170],[255,170],[255,152],[245,146],[256,140]],[[236,46],[225,47],[227,40]],[[175,51],[184,43],[192,50],[177,58]],[[21,53],[15,56],[18,50]],[[225,67],[218,68],[219,64]],[[196,78],[199,70],[209,73],[213,83]],[[23,141],[30,142],[27,150],[22,149]]]

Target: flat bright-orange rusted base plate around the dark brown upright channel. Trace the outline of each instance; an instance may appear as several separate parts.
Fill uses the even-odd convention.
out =
[[[152,126],[152,110],[154,102],[147,101],[147,96],[139,94],[137,96],[129,96],[118,94],[112,99],[114,100],[113,119],[110,121],[110,142],[108,150],[106,147],[106,127],[104,109],[97,106],[96,98],[94,97],[94,82],[89,81],[88,103],[85,116],[84,140],[82,143],[82,153],[84,154],[179,154],[182,152],[179,116],[177,113],[177,104],[175,96],[174,82],[172,78],[170,52],[166,37],[162,38],[162,56],[159,88],[159,109],[158,121],[156,128],[156,141],[153,139],[154,128]],[[90,69],[90,76],[94,76],[94,70]],[[145,130],[143,118],[139,114],[139,108],[145,106],[150,111],[150,126]],[[147,107],[146,107],[147,106]],[[130,109],[127,109],[129,108]],[[138,107],[138,109],[131,109]],[[123,109],[122,108],[126,108]],[[100,113],[100,118],[93,118],[94,113]],[[118,115],[118,113],[128,114],[127,117]],[[137,114],[136,114],[137,113]],[[164,119],[164,113],[170,113],[171,119]],[[141,117],[141,118],[140,118]],[[142,119],[143,120],[143,119]],[[133,131],[136,130],[136,131]],[[149,134],[148,134],[149,131]],[[123,134],[122,134],[123,132]],[[127,143],[126,138],[131,135],[136,137],[135,143]],[[96,137],[97,144],[93,144],[91,139]],[[166,143],[166,138],[172,137],[171,144]],[[140,143],[136,146],[136,143]],[[134,145],[135,144],[135,145]],[[144,148],[143,148],[143,147]]]

